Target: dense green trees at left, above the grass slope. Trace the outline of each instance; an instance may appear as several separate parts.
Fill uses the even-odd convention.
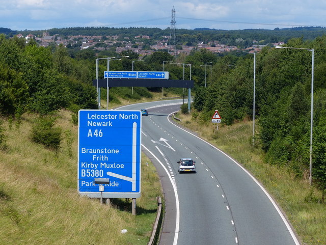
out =
[[[45,115],[71,104],[96,108],[89,68],[83,72],[80,65],[63,46],[52,53],[33,41],[25,44],[24,39],[0,35],[0,114]]]

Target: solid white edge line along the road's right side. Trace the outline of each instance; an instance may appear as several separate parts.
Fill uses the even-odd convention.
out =
[[[175,111],[175,112],[173,112],[173,113],[176,113],[176,112],[179,112],[179,111]],[[170,115],[172,115],[173,113],[171,113]],[[170,116],[170,115],[169,115],[169,116]],[[256,184],[257,184],[257,185],[262,189],[262,191],[265,193],[265,195],[267,196],[267,198],[269,199],[269,201],[273,204],[273,206],[275,207],[275,209],[277,210],[277,212],[278,212],[279,215],[281,216],[281,219],[283,220],[283,222],[284,222],[286,228],[287,228],[288,231],[290,232],[290,234],[291,234],[291,236],[292,236],[292,239],[293,239],[294,243],[295,243],[296,245],[300,245],[300,242],[297,240],[297,238],[296,238],[296,236],[295,236],[295,234],[294,234],[294,232],[293,232],[293,230],[292,230],[290,224],[289,224],[289,223],[287,222],[287,220],[285,219],[285,216],[283,215],[282,211],[280,210],[280,208],[278,207],[278,205],[276,204],[276,202],[273,200],[273,198],[271,198],[271,196],[267,193],[267,190],[265,190],[265,188],[264,188],[264,187],[263,187],[263,186],[258,182],[258,180],[257,180],[253,175],[251,175],[251,173],[249,173],[245,168],[243,168],[240,164],[238,164],[238,162],[236,162],[236,160],[234,160],[231,156],[227,155],[225,152],[221,151],[219,148],[217,148],[217,147],[213,146],[212,144],[208,143],[207,141],[201,139],[201,138],[198,137],[197,135],[195,135],[195,134],[193,134],[193,133],[191,133],[191,132],[188,132],[187,130],[185,130],[185,129],[183,129],[183,128],[177,126],[177,125],[175,125],[174,123],[172,123],[172,122],[170,121],[169,116],[168,116],[167,118],[168,118],[168,121],[169,121],[172,125],[174,125],[174,126],[176,126],[177,128],[180,128],[181,130],[183,130],[183,131],[185,131],[185,132],[187,132],[187,133],[193,135],[194,137],[196,137],[196,138],[200,139],[201,141],[207,143],[208,145],[210,145],[210,146],[213,147],[214,149],[220,151],[222,154],[224,154],[225,156],[227,156],[228,158],[230,158],[230,159],[231,159],[231,160],[232,160],[232,161],[233,161],[237,166],[239,166],[239,167],[240,167],[244,172],[246,172],[246,173],[247,173],[247,174],[248,174],[248,175],[249,175],[249,176],[250,176],[250,177],[251,177],[251,178],[256,182]]]

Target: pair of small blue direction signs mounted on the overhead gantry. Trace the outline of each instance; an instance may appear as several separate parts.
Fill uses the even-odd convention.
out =
[[[104,71],[104,78],[169,79],[168,71]]]

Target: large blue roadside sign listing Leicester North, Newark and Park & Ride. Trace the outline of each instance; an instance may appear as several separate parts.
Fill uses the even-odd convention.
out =
[[[104,198],[141,195],[140,111],[80,110],[78,112],[78,192]]]

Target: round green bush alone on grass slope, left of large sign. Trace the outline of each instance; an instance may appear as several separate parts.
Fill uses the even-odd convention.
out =
[[[50,117],[39,118],[31,131],[32,141],[44,145],[46,148],[58,150],[62,141],[61,128],[53,127],[56,119]]]

